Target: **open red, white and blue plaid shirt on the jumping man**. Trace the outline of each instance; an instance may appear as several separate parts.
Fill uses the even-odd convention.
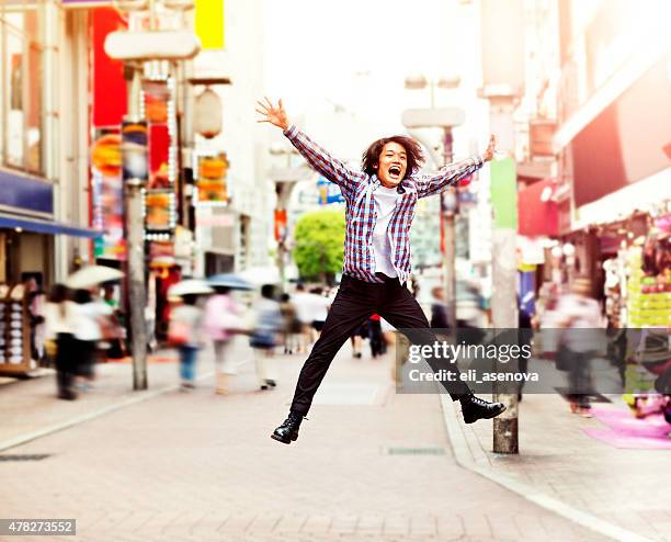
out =
[[[333,158],[295,125],[284,135],[309,165],[329,181],[340,187],[346,202],[346,230],[343,273],[366,282],[384,282],[375,275],[373,230],[377,221],[374,192],[380,185],[377,176],[355,171]],[[401,283],[410,275],[410,226],[420,197],[439,194],[459,179],[482,167],[482,159],[469,158],[445,166],[436,174],[411,174],[399,187],[400,197],[389,221],[387,233],[391,242],[391,262]]]

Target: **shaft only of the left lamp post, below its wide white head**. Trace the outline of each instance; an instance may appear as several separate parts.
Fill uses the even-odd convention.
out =
[[[133,66],[133,79],[128,92],[128,118],[139,120],[140,72]],[[128,308],[133,349],[133,389],[147,389],[147,327],[145,305],[145,218],[143,216],[143,182],[130,179],[125,182]]]

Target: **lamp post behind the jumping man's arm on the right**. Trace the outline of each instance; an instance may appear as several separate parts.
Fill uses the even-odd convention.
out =
[[[412,75],[406,78],[407,89],[431,90],[431,108],[403,111],[402,123],[407,128],[443,129],[443,163],[447,166],[453,160],[452,128],[464,123],[465,113],[459,108],[436,108],[435,88],[455,89],[460,78],[456,75],[441,77],[437,80],[427,79],[423,75]],[[436,166],[441,166],[437,165]],[[443,292],[445,305],[450,313],[451,325],[456,328],[456,215],[458,214],[458,197],[456,189],[451,187],[441,194],[441,238],[443,239]]]

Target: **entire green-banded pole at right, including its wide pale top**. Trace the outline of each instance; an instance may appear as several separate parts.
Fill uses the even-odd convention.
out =
[[[481,0],[480,44],[482,88],[480,98],[489,100],[490,131],[498,147],[508,158],[492,160],[490,166],[492,227],[492,296],[493,327],[498,331],[518,327],[516,235],[518,187],[515,171],[515,101],[525,83],[525,15],[523,0]],[[501,52],[505,50],[505,61]],[[512,334],[504,334],[510,340]],[[515,371],[516,364],[497,366],[498,371]],[[494,383],[493,400],[507,409],[493,420],[493,451],[519,453],[518,395],[502,394]]]

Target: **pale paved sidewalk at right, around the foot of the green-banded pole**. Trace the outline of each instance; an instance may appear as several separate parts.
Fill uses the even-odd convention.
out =
[[[626,408],[612,399],[599,408]],[[520,454],[497,454],[491,420],[456,424],[458,409],[448,402],[444,407],[464,466],[551,500],[550,508],[567,506],[575,509],[569,515],[585,512],[592,523],[622,529],[619,540],[671,541],[671,451],[614,448],[589,437],[584,429],[603,424],[570,414],[561,396],[527,394],[520,404]]]

